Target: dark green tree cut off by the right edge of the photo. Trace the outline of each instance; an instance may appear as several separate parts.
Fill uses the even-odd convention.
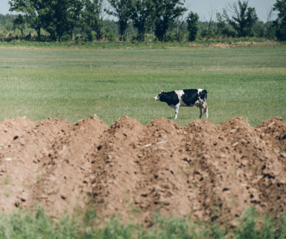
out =
[[[274,21],[276,37],[286,40],[286,0],[276,0],[273,10],[278,11],[278,18]]]

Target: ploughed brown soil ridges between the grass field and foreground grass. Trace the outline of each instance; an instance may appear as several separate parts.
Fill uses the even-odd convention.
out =
[[[286,123],[257,127],[123,117],[71,124],[25,117],[0,122],[0,210],[42,205],[60,216],[90,201],[103,218],[151,225],[155,210],[229,225],[247,206],[286,210]]]

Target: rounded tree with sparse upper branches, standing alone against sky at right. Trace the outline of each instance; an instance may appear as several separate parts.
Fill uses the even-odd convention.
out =
[[[234,15],[229,17],[224,9],[223,17],[226,21],[237,31],[239,37],[251,36],[251,28],[258,20],[255,8],[248,7],[248,0],[243,2],[239,0],[238,5],[234,2],[228,6]]]

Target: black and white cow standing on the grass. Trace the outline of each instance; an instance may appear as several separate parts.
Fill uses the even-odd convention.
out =
[[[175,119],[177,119],[180,106],[192,107],[194,105],[200,108],[200,118],[203,115],[202,109],[208,118],[208,111],[206,105],[206,90],[203,89],[188,89],[188,90],[175,90],[170,92],[164,92],[163,90],[154,100],[160,100],[166,102],[170,107],[175,109]]]

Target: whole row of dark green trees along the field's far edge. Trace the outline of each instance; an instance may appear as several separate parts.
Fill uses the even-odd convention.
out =
[[[209,21],[199,21],[198,14],[184,6],[184,0],[10,0],[9,4],[10,11],[19,13],[7,15],[12,16],[13,29],[19,29],[23,38],[23,29],[28,26],[39,41],[72,40],[78,33],[89,41],[106,39],[109,34],[108,40],[112,41],[115,24],[119,40],[124,40],[130,27],[139,41],[145,41],[147,35],[152,40],[180,41],[182,34],[192,41],[198,32],[203,38],[257,36],[286,40],[286,0],[276,0],[266,22],[258,19],[248,0],[228,3],[221,13],[210,12]],[[277,12],[276,20],[272,20],[273,11]],[[107,16],[117,21],[106,20]]]

